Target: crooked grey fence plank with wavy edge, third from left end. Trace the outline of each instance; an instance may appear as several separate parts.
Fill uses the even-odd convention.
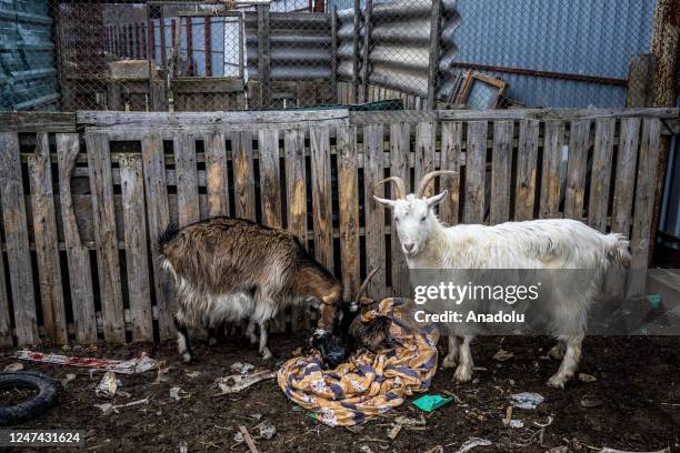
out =
[[[90,254],[83,245],[71,191],[71,175],[76,159],[80,152],[77,133],[57,134],[57,157],[59,162],[59,199],[61,205],[61,222],[66,242],[67,262],[69,265],[69,286],[71,290],[71,308],[76,325],[76,341],[91,343],[97,341],[97,321],[94,318],[94,293],[90,271]],[[88,223],[90,220],[88,219]]]

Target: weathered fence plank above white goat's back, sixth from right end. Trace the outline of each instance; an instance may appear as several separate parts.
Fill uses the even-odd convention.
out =
[[[536,174],[538,172],[538,120],[520,121],[514,220],[533,219]]]

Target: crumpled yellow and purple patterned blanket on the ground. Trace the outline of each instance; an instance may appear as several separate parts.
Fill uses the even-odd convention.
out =
[[[358,351],[334,370],[323,370],[320,355],[286,362],[278,374],[286,396],[329,426],[350,426],[427,391],[437,371],[439,331],[414,325],[408,305],[401,298],[384,299],[362,315],[366,321],[378,314],[392,320],[389,344],[378,354]]]

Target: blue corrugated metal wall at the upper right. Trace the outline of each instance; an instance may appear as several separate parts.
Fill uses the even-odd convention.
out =
[[[654,0],[457,0],[456,61],[628,78],[650,49]],[[623,107],[626,87],[490,72],[530,107]]]

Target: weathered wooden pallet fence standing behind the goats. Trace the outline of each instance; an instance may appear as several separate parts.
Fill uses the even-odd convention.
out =
[[[437,169],[458,172],[428,188],[449,191],[439,207],[449,224],[573,218],[626,234],[633,265],[643,269],[661,119],[673,115],[677,109],[3,114],[0,345],[172,338],[172,281],[159,238],[170,222],[213,215],[288,229],[342,276],[344,298],[376,268],[372,296],[409,295],[391,212],[372,195],[392,195],[376,185],[388,175],[412,190]],[[609,284],[643,288],[634,278]],[[314,323],[313,311],[297,309],[271,328]]]

